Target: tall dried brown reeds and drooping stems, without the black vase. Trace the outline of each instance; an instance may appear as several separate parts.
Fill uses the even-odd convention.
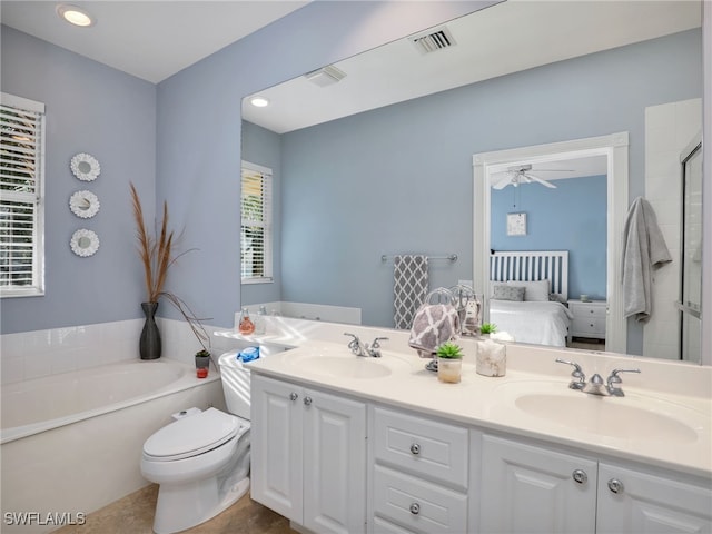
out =
[[[160,230],[158,238],[151,236],[146,230],[144,222],[144,209],[141,208],[141,199],[134,184],[131,187],[131,204],[134,206],[134,218],[136,219],[136,238],[138,241],[138,254],[144,265],[144,281],[146,284],[146,296],[148,303],[158,303],[159,298],[165,297],[184,316],[196,338],[200,343],[202,350],[200,353],[209,354],[210,336],[208,336],[201,320],[195,316],[190,307],[178,296],[170,291],[164,290],[168,268],[176,260],[188,253],[186,250],[179,255],[174,255],[174,230],[168,229],[168,202],[164,200],[164,214],[160,221]]]

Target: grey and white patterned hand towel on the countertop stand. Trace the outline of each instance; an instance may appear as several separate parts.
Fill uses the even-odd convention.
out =
[[[459,314],[451,304],[424,304],[415,314],[408,345],[422,358],[432,358],[437,347],[459,334]]]

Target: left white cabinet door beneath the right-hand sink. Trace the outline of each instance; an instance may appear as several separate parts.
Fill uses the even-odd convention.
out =
[[[483,436],[479,530],[593,533],[596,462]]]

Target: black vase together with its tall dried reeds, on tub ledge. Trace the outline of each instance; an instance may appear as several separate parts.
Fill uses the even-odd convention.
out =
[[[134,184],[130,184],[130,187],[134,218],[136,219],[138,253],[144,266],[144,279],[146,283],[146,301],[141,303],[141,308],[146,314],[146,323],[144,324],[139,342],[141,359],[157,359],[160,357],[161,339],[155,316],[158,309],[158,301],[164,297],[167,298],[168,301],[178,309],[178,312],[180,312],[202,347],[196,354],[196,366],[198,366],[198,358],[202,358],[200,362],[204,362],[205,356],[207,356],[207,365],[204,367],[207,368],[210,359],[210,336],[205,332],[201,319],[198,319],[195,316],[192,310],[184,300],[175,294],[164,290],[168,268],[176,263],[180,256],[189,250],[175,255],[174,231],[168,229],[167,202],[164,202],[164,214],[158,237],[156,238],[147,231],[146,225],[144,224],[141,200],[136,191],[136,187],[134,187]]]

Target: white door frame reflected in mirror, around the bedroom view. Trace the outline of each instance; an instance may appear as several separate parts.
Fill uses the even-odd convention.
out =
[[[486,290],[490,271],[490,187],[487,176],[490,167],[507,162],[520,162],[523,159],[535,159],[544,156],[586,156],[605,155],[607,157],[609,179],[606,180],[607,254],[606,259],[606,352],[626,354],[627,320],[624,317],[623,299],[619,298],[621,286],[621,255],[623,250],[623,228],[629,206],[629,132],[621,131],[607,136],[574,139],[568,141],[535,145],[528,147],[495,150],[473,156],[474,175],[474,217],[473,250],[483,250],[479,260],[473,258],[473,283],[475,291],[483,295],[485,318],[488,318],[490,295]],[[479,228],[478,228],[479,227]]]

